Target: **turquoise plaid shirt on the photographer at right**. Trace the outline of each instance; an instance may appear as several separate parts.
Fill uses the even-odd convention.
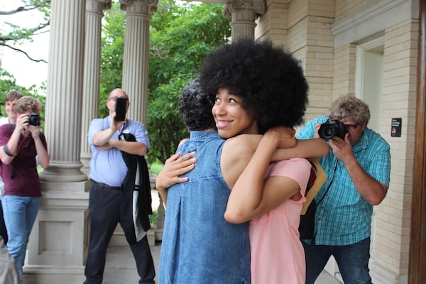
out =
[[[322,124],[327,119],[327,116],[321,116],[307,122],[297,134],[297,138],[313,138],[315,124]],[[368,175],[389,186],[390,147],[378,133],[366,128],[361,141],[353,147],[353,152]],[[332,150],[318,161],[328,178],[315,200],[321,200],[328,187],[329,191],[317,207],[315,244],[345,246],[368,238],[371,235],[373,206],[361,197],[344,164],[336,158]]]

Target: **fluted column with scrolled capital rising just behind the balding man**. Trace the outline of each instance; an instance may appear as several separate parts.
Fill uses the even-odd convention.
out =
[[[120,0],[126,11],[122,88],[129,94],[129,119],[146,124],[149,23],[158,0]]]

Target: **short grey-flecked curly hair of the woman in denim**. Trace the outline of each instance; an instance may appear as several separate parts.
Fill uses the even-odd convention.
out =
[[[189,131],[216,129],[213,104],[214,98],[202,91],[198,77],[185,85],[179,99],[179,112]]]

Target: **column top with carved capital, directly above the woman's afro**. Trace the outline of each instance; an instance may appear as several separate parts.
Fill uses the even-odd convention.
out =
[[[223,14],[231,18],[231,41],[240,38],[252,38],[254,40],[254,28],[256,18],[266,13],[265,0],[233,0],[228,1]]]

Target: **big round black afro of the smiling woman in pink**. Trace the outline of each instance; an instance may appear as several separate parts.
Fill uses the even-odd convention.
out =
[[[300,62],[269,40],[242,39],[214,50],[204,59],[200,83],[213,98],[219,88],[241,96],[260,133],[303,122],[308,85]]]

